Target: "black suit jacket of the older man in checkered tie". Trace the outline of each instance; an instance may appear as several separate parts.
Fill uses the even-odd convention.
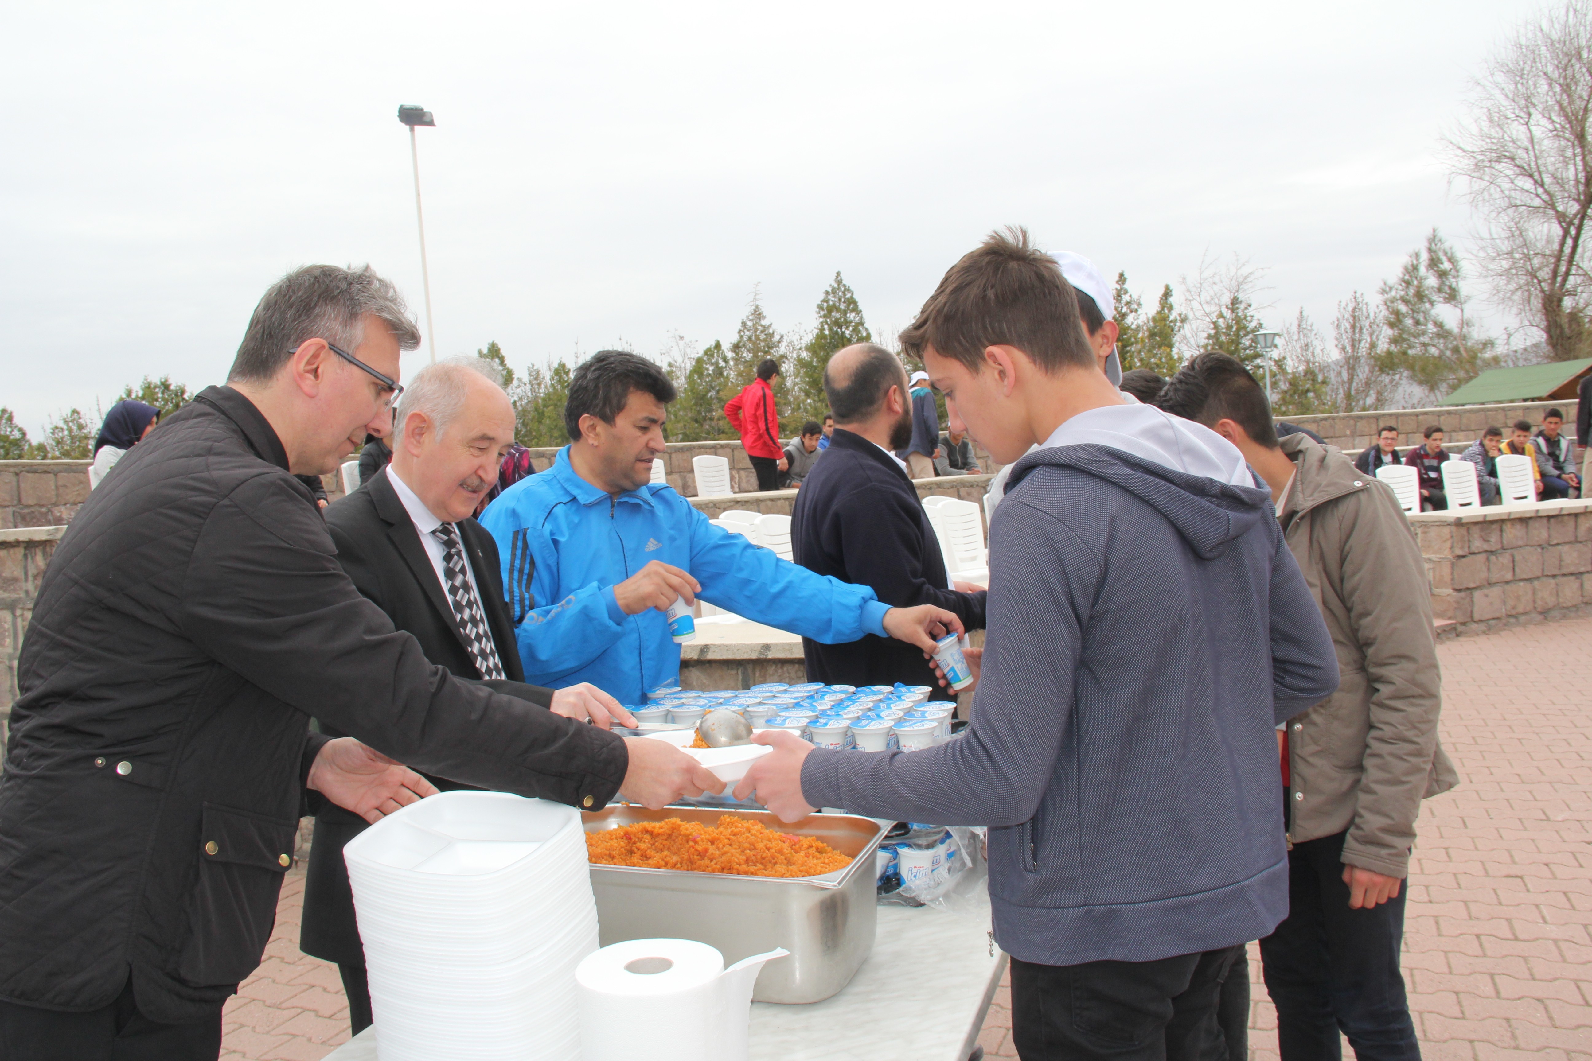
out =
[[[436,579],[436,568],[420,544],[420,531],[393,490],[388,472],[390,466],[384,466],[369,482],[326,509],[326,530],[338,546],[338,562],[360,593],[387,612],[398,630],[414,635],[425,659],[458,678],[479,679],[481,671]],[[552,690],[521,682],[525,674],[514,646],[514,624],[503,603],[497,542],[473,519],[458,523],[458,538],[476,576],[481,609],[492,628],[503,673],[509,678],[486,684],[546,708],[552,703]],[[322,732],[342,736],[325,724]],[[471,787],[446,778],[430,779],[443,791]],[[353,921],[349,869],[342,861],[342,846],[365,827],[363,818],[333,803],[326,803],[315,816],[299,946],[306,954],[341,966],[365,964],[365,948]]]

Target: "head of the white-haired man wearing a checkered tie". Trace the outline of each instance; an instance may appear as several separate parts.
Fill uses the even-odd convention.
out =
[[[476,511],[514,442],[514,406],[498,379],[490,361],[451,358],[420,369],[398,406],[393,472],[439,520]]]

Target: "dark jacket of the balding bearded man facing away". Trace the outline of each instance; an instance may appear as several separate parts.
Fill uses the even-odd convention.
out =
[[[946,587],[939,538],[917,488],[877,445],[834,429],[825,458],[814,464],[791,511],[796,563],[842,582],[871,585],[887,604],[938,604],[957,612],[968,630],[984,628],[985,592]],[[939,687],[939,678],[915,646],[866,635],[849,644],[802,638],[807,681],[849,686]]]

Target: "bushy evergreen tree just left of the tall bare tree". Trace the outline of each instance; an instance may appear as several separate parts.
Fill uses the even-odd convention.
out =
[[[1433,229],[1426,247],[1411,251],[1398,280],[1382,285],[1387,339],[1379,366],[1401,372],[1426,399],[1442,398],[1498,364],[1493,340],[1465,315],[1469,297],[1463,278],[1458,251]]]

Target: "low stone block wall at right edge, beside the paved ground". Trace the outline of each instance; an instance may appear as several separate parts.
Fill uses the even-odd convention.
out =
[[[1592,611],[1592,499],[1409,519],[1433,612],[1458,633]]]

